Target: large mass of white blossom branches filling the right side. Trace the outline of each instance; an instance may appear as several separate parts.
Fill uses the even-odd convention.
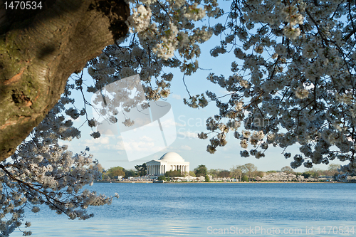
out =
[[[299,144],[300,154],[285,155],[293,168],[339,159],[350,162],[342,172],[355,172],[355,16],[355,5],[340,0],[234,0],[226,25],[216,25],[225,39],[211,50],[216,57],[233,46],[236,61],[229,78],[207,78],[231,93],[227,102],[207,93],[219,107],[206,120],[214,134],[208,151],[234,131],[243,157]],[[241,134],[236,123],[244,124]]]

